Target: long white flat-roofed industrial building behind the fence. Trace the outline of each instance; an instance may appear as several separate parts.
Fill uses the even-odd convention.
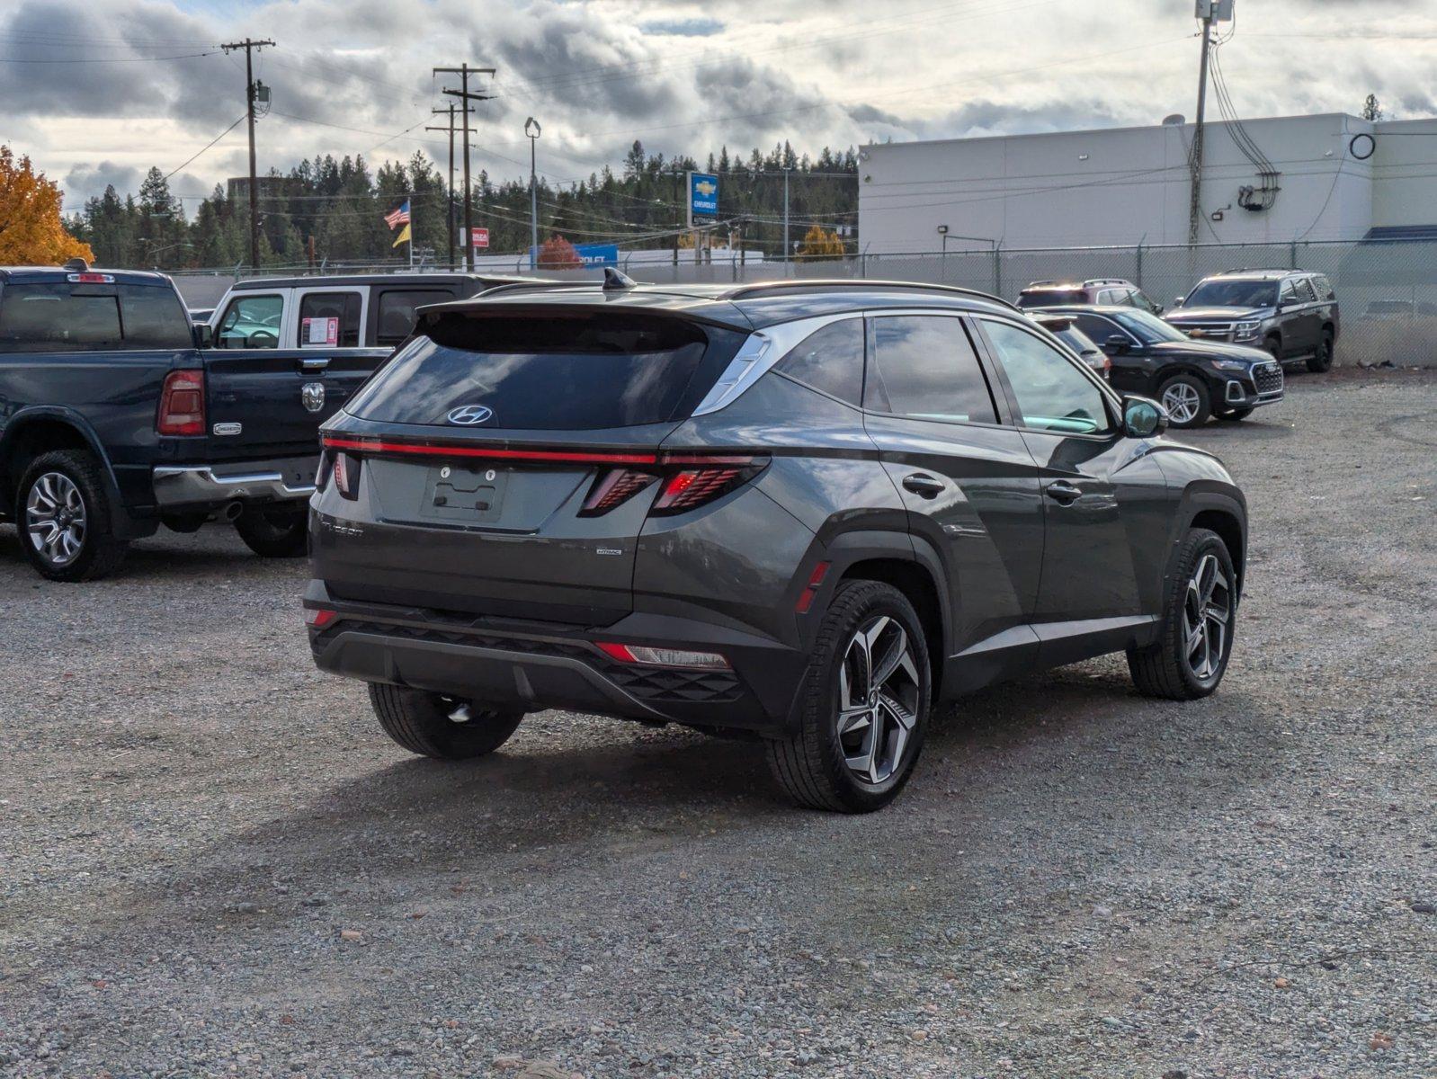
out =
[[[1193,125],[1170,121],[865,147],[861,250],[1186,244]],[[1198,243],[1361,240],[1424,226],[1437,234],[1437,119],[1323,114],[1243,129],[1275,175],[1243,154],[1242,132],[1207,124]]]

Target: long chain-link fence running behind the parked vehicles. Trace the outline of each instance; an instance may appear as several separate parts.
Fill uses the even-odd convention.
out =
[[[527,256],[513,264],[486,260],[487,273],[527,273]],[[1030,282],[1121,277],[1171,306],[1203,277],[1239,267],[1298,269],[1326,274],[1342,312],[1341,363],[1437,366],[1437,240],[1348,240],[1266,244],[1053,247],[849,254],[836,259],[704,263],[652,261],[619,254],[619,267],[654,284],[743,283],[783,279],[868,277],[956,284],[1012,300]],[[395,273],[397,263],[329,264],[323,273]],[[418,267],[415,267],[418,269]],[[437,267],[425,267],[433,272]],[[260,276],[316,272],[266,267]],[[540,270],[545,277],[592,277],[593,270]],[[250,276],[250,274],[244,274]],[[191,306],[213,305],[234,273],[178,273]]]

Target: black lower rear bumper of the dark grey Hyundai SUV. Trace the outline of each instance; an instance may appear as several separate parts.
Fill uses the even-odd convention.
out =
[[[331,674],[391,682],[502,708],[566,708],[650,723],[756,733],[786,728],[806,657],[786,645],[691,619],[632,613],[602,631],[443,615],[336,601],[320,580],[308,609],[338,618],[309,631],[315,664]],[[720,652],[731,670],[624,664],[596,641]]]

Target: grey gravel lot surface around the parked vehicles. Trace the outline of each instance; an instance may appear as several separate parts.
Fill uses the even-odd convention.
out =
[[[1434,420],[1338,372],[1186,435],[1252,503],[1223,688],[986,691],[868,818],[562,713],[415,760],[300,563],[0,530],[0,1073],[1437,1075]]]

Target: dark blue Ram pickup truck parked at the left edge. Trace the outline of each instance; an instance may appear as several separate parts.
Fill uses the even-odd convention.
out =
[[[319,424],[391,348],[207,349],[157,273],[0,269],[0,522],[52,580],[164,524],[305,552]]]

